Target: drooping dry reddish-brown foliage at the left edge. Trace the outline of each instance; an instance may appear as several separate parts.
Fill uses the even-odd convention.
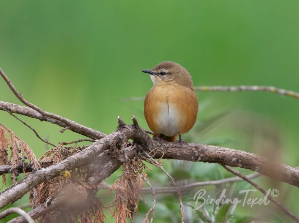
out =
[[[9,158],[8,148],[10,148],[11,150]],[[16,183],[18,176],[17,167],[21,167],[25,174],[24,168],[26,164],[26,159],[30,160],[30,163],[33,165],[35,170],[41,168],[30,147],[23,140],[21,140],[12,130],[0,124],[0,165],[12,165],[11,173],[14,183]],[[2,175],[2,179],[3,180],[1,188],[6,182],[5,175]]]

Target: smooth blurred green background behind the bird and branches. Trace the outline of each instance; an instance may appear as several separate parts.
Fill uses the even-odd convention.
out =
[[[143,102],[121,99],[145,96],[152,83],[140,70],[165,60],[186,67],[195,86],[273,85],[299,92],[298,11],[298,0],[0,0],[0,66],[25,98],[46,111],[107,134],[115,130],[118,115],[126,123],[136,115],[141,127],[148,128]],[[243,128],[269,120],[268,130],[281,137],[281,162],[299,165],[298,100],[258,92],[197,95],[199,123],[221,112],[255,113],[241,114],[238,120],[237,115],[223,118],[237,124],[229,131],[225,125],[213,127],[214,134],[206,138],[229,138],[235,143],[218,144],[262,155],[245,142]],[[0,100],[20,104],[1,80]],[[82,138],[22,118],[53,143]],[[0,123],[28,143],[37,157],[46,151],[44,143],[8,113],[0,112]],[[260,128],[253,128],[248,137]],[[207,143],[190,134],[185,137]],[[284,187],[285,205],[299,214],[298,190]],[[27,198],[16,205],[25,202]],[[157,222],[167,221],[157,215]]]

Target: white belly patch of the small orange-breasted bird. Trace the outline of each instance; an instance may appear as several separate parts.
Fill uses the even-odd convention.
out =
[[[159,113],[156,118],[158,123],[158,133],[166,136],[178,135],[181,132],[182,120],[180,112],[176,106],[170,103],[161,103]]]

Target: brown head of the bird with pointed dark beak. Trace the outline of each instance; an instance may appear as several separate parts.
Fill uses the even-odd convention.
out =
[[[179,84],[193,89],[193,81],[189,72],[180,64],[164,61],[151,70],[141,70],[150,74],[154,85]]]

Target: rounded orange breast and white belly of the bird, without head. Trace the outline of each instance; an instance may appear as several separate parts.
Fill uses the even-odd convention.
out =
[[[186,87],[154,86],[146,95],[144,115],[151,130],[174,136],[189,131],[198,111],[195,93]]]

